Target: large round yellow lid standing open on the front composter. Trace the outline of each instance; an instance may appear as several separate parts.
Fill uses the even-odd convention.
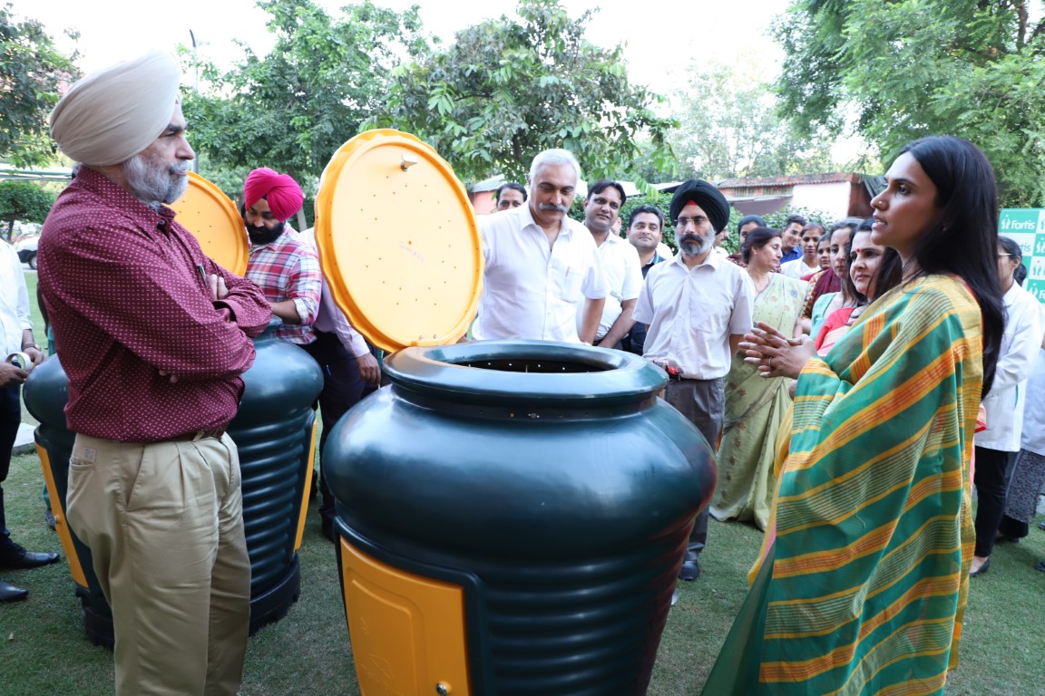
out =
[[[380,349],[452,343],[475,316],[475,213],[450,166],[410,134],[368,130],[334,152],[316,243],[335,304]]]

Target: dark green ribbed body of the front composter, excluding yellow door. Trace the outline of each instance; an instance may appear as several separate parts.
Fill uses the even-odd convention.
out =
[[[409,347],[385,369],[326,445],[343,544],[463,587],[469,694],[646,693],[715,485],[664,371],[544,341]]]

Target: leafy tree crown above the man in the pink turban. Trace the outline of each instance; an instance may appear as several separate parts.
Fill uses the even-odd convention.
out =
[[[192,145],[212,167],[271,167],[304,186],[385,100],[399,56],[425,45],[421,22],[416,7],[400,15],[369,0],[341,17],[311,0],[257,4],[276,45],[258,56],[242,44],[243,62],[225,74],[196,66],[211,89],[185,99]]]

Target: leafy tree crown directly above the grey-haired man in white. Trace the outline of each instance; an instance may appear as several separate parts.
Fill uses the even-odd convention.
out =
[[[394,72],[385,106],[367,125],[408,130],[433,145],[465,181],[493,173],[525,182],[541,150],[564,147],[583,175],[636,178],[636,138],[670,160],[671,122],[659,97],[628,81],[621,48],[584,38],[590,13],[571,19],[558,0],[520,0],[521,22],[502,16],[459,31]]]

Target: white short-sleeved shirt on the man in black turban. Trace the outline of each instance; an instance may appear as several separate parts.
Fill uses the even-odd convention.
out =
[[[753,294],[747,272],[717,254],[692,270],[682,255],[654,265],[634,311],[649,325],[643,357],[671,362],[689,379],[724,377],[729,336],[751,330]]]

